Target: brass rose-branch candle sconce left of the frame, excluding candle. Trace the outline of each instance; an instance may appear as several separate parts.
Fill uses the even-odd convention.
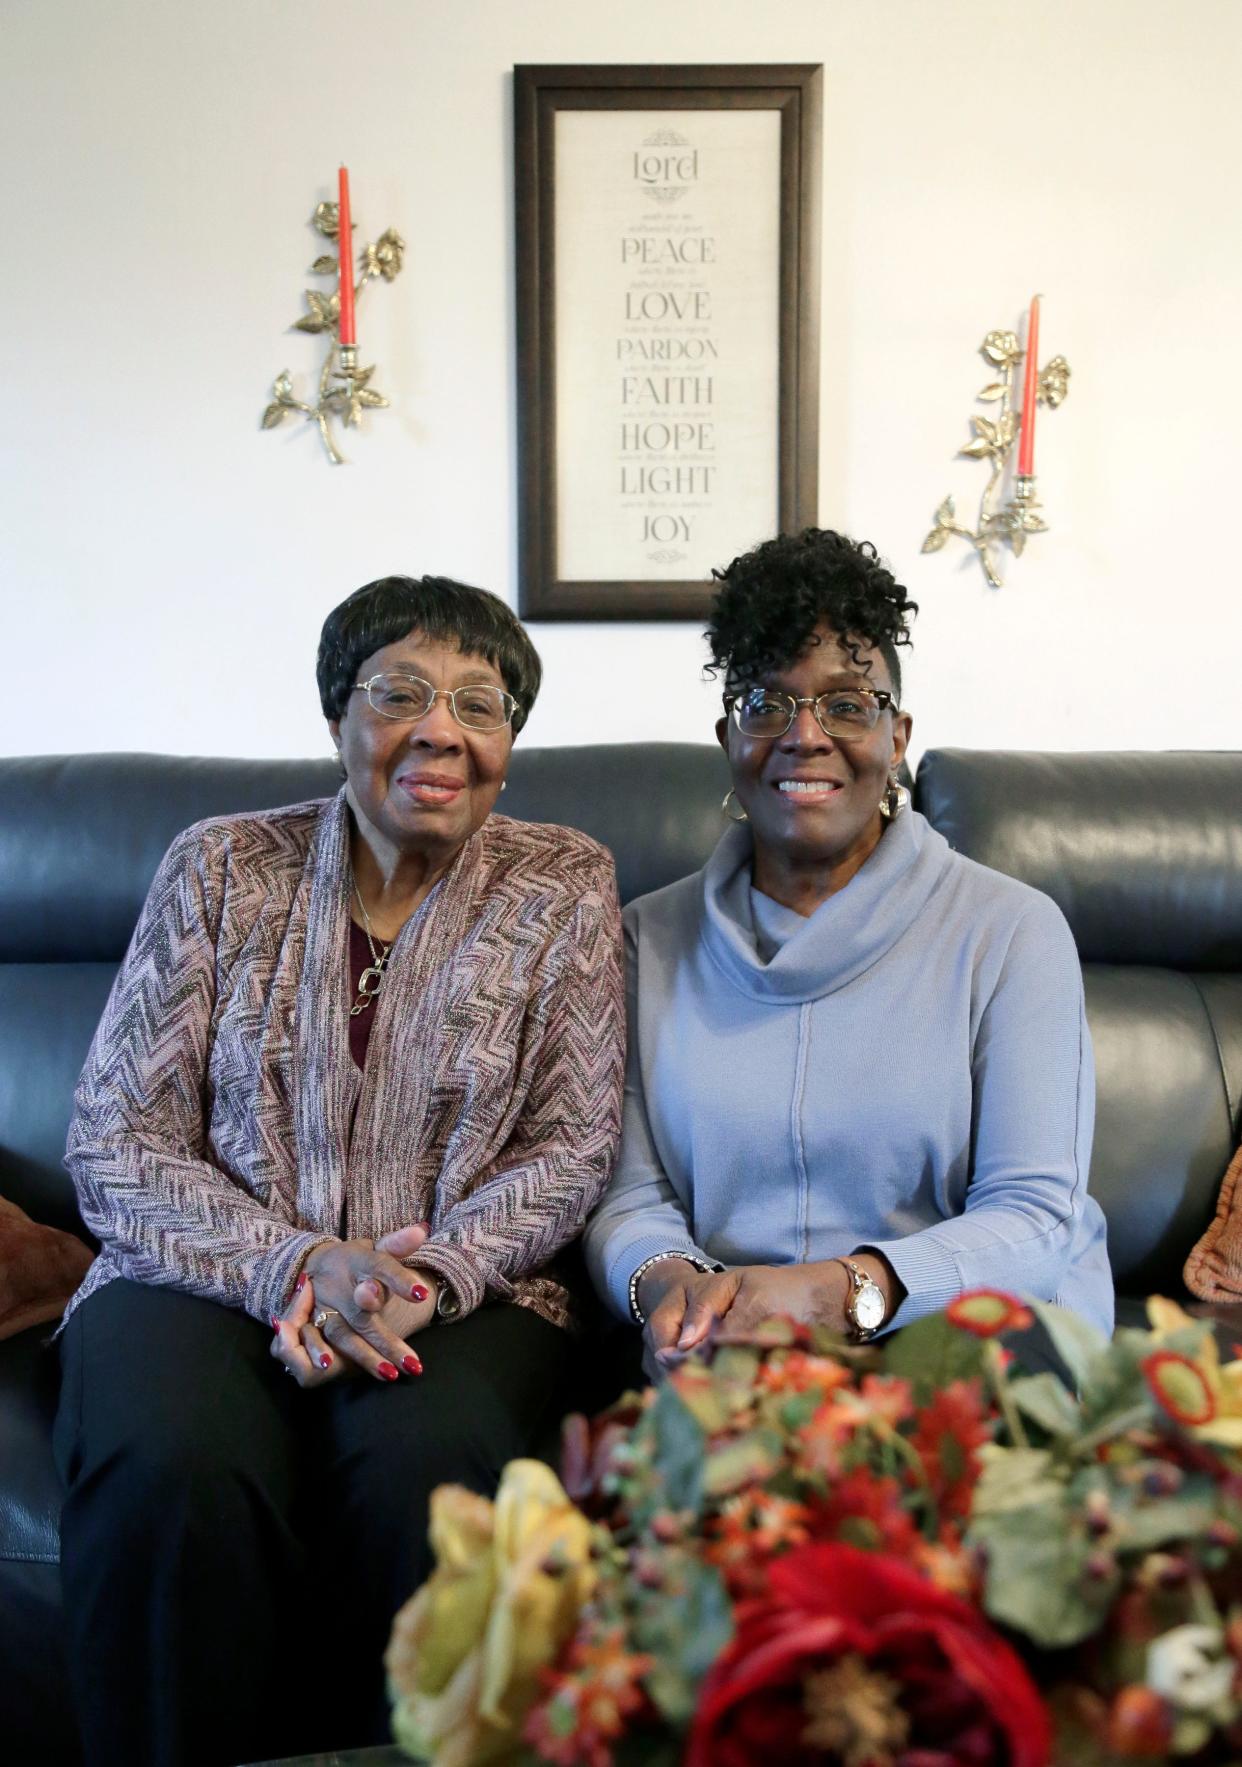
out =
[[[323,239],[336,240],[337,237],[337,205],[320,203],[311,216],[311,226],[323,235]],[[306,290],[306,313],[293,320],[293,330],[327,334],[329,348],[323,357],[323,368],[320,369],[320,387],[314,405],[307,405],[304,399],[293,396],[293,378],[286,369],[283,369],[272,382],[272,401],[263,412],[263,429],[276,429],[277,424],[284,422],[290,412],[300,412],[306,419],[318,426],[323,447],[334,466],[345,463],[345,454],[336,445],[332,435],[332,424],[343,422],[346,428],[355,426],[362,421],[364,410],[378,410],[387,406],[387,399],[382,392],[376,392],[371,385],[371,376],[375,375],[375,366],[359,368],[359,352],[355,345],[343,345],[339,341],[339,323],[341,323],[341,292],[339,292],[339,274],[345,263],[353,270],[350,244],[346,242],[341,260],[337,262],[336,253],[325,253],[316,258],[311,265],[311,276],[330,276],[337,281],[337,288],[329,295],[316,288]],[[394,281],[401,272],[401,258],[405,254],[405,240],[392,228],[385,228],[380,233],[375,246],[364,246],[357,262],[359,279],[353,284],[353,299],[357,300],[367,283],[382,277],[385,283]]]

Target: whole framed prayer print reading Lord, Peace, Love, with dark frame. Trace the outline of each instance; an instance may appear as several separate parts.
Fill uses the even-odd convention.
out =
[[[816,519],[822,69],[518,67],[519,606],[687,620]]]

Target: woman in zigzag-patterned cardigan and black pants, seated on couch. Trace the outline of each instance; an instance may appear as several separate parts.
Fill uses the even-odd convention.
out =
[[[482,590],[360,588],[318,657],[339,795],[200,823],[152,884],[67,1154],[90,1762],[380,1740],[429,1491],[557,1405],[624,1025],[608,853],[493,815],[539,675]]]

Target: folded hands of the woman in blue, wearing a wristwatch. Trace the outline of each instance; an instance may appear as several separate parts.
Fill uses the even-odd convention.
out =
[[[852,1253],[852,1258],[880,1283],[892,1315],[899,1297],[894,1295],[896,1278],[887,1260],[871,1253]],[[740,1263],[719,1274],[696,1270],[685,1258],[663,1258],[638,1285],[638,1304],[647,1316],[647,1361],[652,1371],[675,1368],[726,1315],[733,1331],[751,1331],[760,1320],[783,1315],[800,1325],[829,1325],[844,1332],[848,1295],[850,1278],[836,1258],[820,1263]]]

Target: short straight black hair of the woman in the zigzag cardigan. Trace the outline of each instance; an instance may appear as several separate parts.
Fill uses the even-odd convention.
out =
[[[447,576],[380,576],[332,608],[320,633],[314,679],[325,717],[343,717],[359,666],[408,633],[486,657],[518,701],[518,735],[539,694],[542,663],[526,627],[500,595]]]

